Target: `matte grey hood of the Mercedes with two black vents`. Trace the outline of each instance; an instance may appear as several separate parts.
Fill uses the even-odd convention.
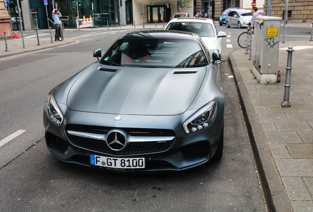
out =
[[[197,95],[206,70],[94,65],[73,83],[67,106],[95,113],[181,114]]]

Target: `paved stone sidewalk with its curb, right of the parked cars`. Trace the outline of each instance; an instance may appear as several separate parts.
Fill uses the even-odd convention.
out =
[[[287,64],[280,43],[281,82],[261,85],[245,49],[229,55],[269,211],[313,211],[313,41],[293,43],[291,107],[282,107]]]

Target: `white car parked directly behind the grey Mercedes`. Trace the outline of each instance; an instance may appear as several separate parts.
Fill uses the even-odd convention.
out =
[[[197,33],[209,50],[221,53],[221,37],[225,32],[218,32],[212,19],[207,18],[177,18],[172,19],[165,30],[188,31]]]

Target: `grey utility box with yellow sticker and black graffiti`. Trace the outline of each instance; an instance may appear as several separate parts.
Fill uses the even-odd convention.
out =
[[[258,16],[252,40],[252,73],[260,84],[277,82],[277,63],[282,18]]]

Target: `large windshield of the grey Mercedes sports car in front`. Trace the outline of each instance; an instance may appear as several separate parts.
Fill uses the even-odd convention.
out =
[[[208,65],[198,42],[193,40],[124,38],[102,56],[101,64],[127,67],[191,68]]]

